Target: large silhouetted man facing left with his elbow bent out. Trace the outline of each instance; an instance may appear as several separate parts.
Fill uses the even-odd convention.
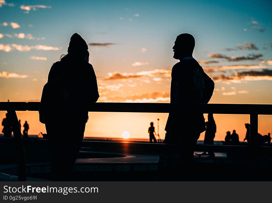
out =
[[[164,143],[179,147],[174,153],[161,153],[160,170],[188,171],[196,142],[206,130],[203,112],[196,110],[194,104],[208,103],[214,82],[193,58],[194,46],[194,37],[187,33],[177,36],[173,46],[173,57],[180,62],[173,66],[171,73],[170,103],[174,106],[165,126]]]

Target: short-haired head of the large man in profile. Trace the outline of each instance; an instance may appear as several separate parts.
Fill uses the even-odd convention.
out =
[[[195,46],[194,37],[191,34],[183,33],[176,37],[175,45],[173,46],[174,58],[183,59],[193,55]]]

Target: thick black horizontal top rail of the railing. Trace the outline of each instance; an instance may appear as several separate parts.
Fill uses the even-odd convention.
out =
[[[186,105],[186,104],[185,104]],[[104,103],[91,104],[90,112],[150,112],[168,113],[175,104],[169,103]],[[0,102],[0,111],[38,111],[40,102]],[[71,106],[72,108],[76,108]],[[272,115],[272,104],[195,104],[204,113]]]

